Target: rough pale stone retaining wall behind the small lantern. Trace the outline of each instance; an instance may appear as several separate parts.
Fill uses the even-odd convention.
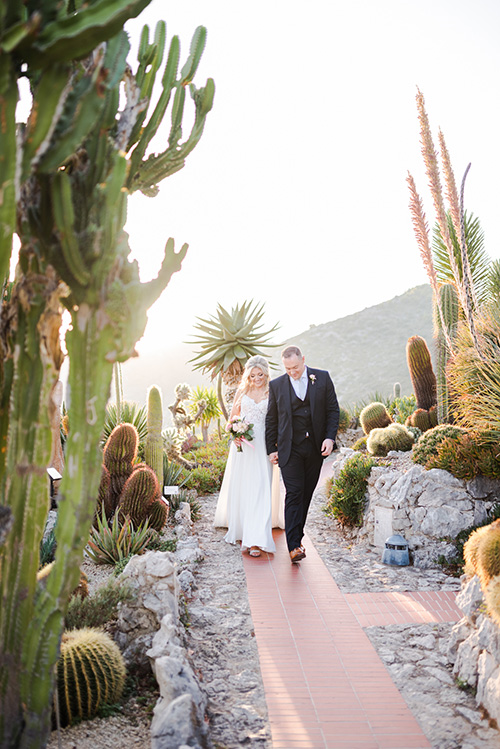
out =
[[[335,477],[354,454],[350,448],[340,449],[333,464]],[[500,501],[499,481],[464,481],[438,468],[427,471],[413,463],[411,453],[390,452],[387,459],[390,465],[376,466],[370,473],[363,526],[354,535],[381,553],[389,536],[402,535],[416,567],[434,567],[441,555],[451,559],[456,552],[450,539],[484,522]]]

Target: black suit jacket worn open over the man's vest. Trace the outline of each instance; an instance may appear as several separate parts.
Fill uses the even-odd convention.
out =
[[[319,453],[323,440],[335,442],[339,427],[339,404],[330,374],[307,367],[308,393],[311,404],[314,444]],[[314,381],[313,381],[314,380]],[[269,406],[266,414],[267,453],[278,451],[280,466],[288,463],[292,450],[292,401],[287,374],[269,383]]]

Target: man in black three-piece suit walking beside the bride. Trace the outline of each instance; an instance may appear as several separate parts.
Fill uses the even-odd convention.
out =
[[[292,562],[300,562],[304,525],[323,459],[335,446],[339,404],[328,372],[310,369],[297,346],[281,354],[286,374],[269,383],[266,449],[286,489],[285,531]]]

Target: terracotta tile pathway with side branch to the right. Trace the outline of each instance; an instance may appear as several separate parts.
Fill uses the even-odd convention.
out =
[[[456,621],[454,594],[344,595],[307,536],[296,565],[275,541],[243,555],[273,749],[429,749],[362,627]]]

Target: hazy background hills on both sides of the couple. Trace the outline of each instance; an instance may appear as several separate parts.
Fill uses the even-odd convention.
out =
[[[412,392],[405,348],[408,338],[417,334],[432,347],[432,292],[427,284],[353,315],[311,326],[287,343],[300,346],[311,366],[330,371],[340,402],[348,405],[375,391],[390,395],[395,382],[401,383],[404,395]],[[158,385],[165,424],[170,424],[167,406],[174,401],[175,386],[210,384],[187,364],[192,356],[189,346],[179,344],[129,360],[123,365],[125,398],[144,403],[148,387]],[[279,350],[272,358],[279,361]]]

